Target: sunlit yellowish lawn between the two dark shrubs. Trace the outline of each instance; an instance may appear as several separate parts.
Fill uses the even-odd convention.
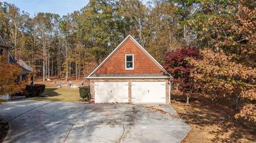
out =
[[[49,97],[33,97],[30,100],[53,101],[53,102],[78,102],[82,98],[79,96],[78,88],[69,87],[45,87],[44,95]]]

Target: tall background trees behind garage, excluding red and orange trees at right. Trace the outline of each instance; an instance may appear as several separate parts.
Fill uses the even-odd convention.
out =
[[[32,66],[43,80],[66,79],[91,71],[127,36],[134,36],[157,60],[182,45],[192,44],[186,21],[197,2],[90,1],[79,11],[60,16],[29,15],[0,2],[0,33],[12,54]]]

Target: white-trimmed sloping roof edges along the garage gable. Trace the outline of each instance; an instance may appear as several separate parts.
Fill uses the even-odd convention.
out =
[[[95,73],[95,72],[97,72],[100,68],[101,68],[101,66],[103,65],[103,64],[105,64],[108,60],[109,60],[109,58],[111,57],[111,56],[113,56],[117,51],[118,51],[118,49],[125,43],[125,41],[127,40],[127,39],[131,39],[165,74],[167,74],[167,75],[169,75],[169,76],[171,76],[164,68],[163,68],[163,66],[161,65],[161,64],[159,64],[156,60],[155,60],[155,58],[153,57],[153,56],[151,56],[147,51],[146,51],[146,49],[144,49],[131,35],[129,35],[129,36],[127,36],[115,49],[114,49],[114,51],[113,52],[111,52],[106,58],[105,58],[105,60],[103,60],[103,62],[101,62],[100,63],[100,65],[98,65],[97,66],[97,68],[95,68],[89,75],[88,75],[88,77],[87,78],[91,78],[91,77],[93,77],[92,75]]]

